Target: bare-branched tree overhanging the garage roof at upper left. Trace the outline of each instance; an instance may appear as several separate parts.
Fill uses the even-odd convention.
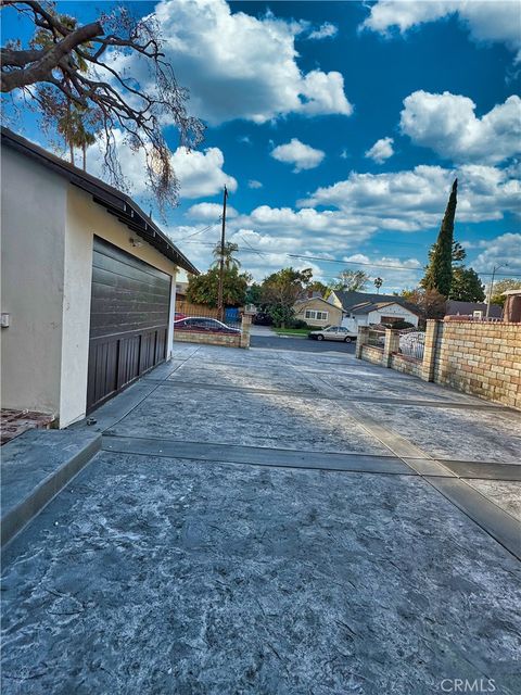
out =
[[[179,184],[163,124],[175,125],[179,144],[188,149],[202,140],[204,126],[187,113],[188,92],[179,87],[171,65],[164,60],[155,16],[136,18],[119,7],[80,25],[75,17],[62,22],[50,2],[2,0],[1,8],[34,25],[26,41],[8,41],[1,49],[0,89],[13,94],[13,106],[33,104],[43,118],[55,117],[52,110],[67,101],[80,113],[96,111],[111,182],[125,187],[115,138],[120,132],[134,152],[144,154],[143,177],[160,208],[175,204]],[[38,39],[41,33],[46,41]],[[142,84],[118,67],[129,56],[139,56],[149,67],[150,75]]]

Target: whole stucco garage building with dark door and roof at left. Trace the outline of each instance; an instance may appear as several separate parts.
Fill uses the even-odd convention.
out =
[[[4,129],[1,167],[2,407],[65,427],[168,358],[176,273],[198,269],[128,195]]]

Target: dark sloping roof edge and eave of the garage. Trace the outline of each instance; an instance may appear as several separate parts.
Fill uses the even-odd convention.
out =
[[[199,275],[198,268],[179,251],[170,239],[152,222],[141,207],[126,193],[109,186],[104,181],[68,162],[61,160],[43,148],[2,127],[2,147],[9,147],[35,162],[63,176],[73,186],[90,193],[92,200],[102,205],[129,229],[144,239],[160,253],[192,275]]]

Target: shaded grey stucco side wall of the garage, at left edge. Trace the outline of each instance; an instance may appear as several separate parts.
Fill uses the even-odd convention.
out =
[[[2,148],[2,406],[56,414],[67,185]]]

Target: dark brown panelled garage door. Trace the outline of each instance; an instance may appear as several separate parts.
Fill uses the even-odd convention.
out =
[[[87,410],[166,355],[170,276],[94,237]]]

